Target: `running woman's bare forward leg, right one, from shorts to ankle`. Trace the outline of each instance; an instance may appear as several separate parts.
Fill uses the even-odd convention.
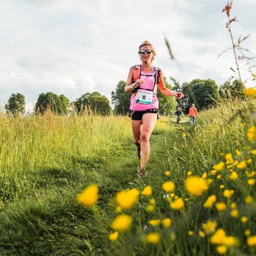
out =
[[[148,159],[150,158],[150,135],[156,124],[156,119],[156,113],[146,113],[142,116],[142,127],[140,135],[140,169],[143,170],[145,169]]]

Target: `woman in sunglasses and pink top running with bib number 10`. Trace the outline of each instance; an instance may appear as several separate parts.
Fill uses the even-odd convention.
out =
[[[129,117],[140,159],[139,176],[144,177],[150,158],[150,135],[158,119],[157,87],[162,94],[176,96],[178,99],[183,97],[183,93],[171,91],[164,86],[162,69],[152,65],[156,50],[150,42],[145,40],[139,46],[138,53],[141,65],[130,68],[125,92],[132,92]]]

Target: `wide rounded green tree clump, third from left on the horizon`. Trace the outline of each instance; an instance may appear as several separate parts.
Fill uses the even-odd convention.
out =
[[[112,110],[108,98],[101,95],[99,92],[83,94],[80,98],[76,99],[73,104],[75,105],[77,114],[84,113],[85,110],[92,110],[94,113],[100,115],[109,115]]]

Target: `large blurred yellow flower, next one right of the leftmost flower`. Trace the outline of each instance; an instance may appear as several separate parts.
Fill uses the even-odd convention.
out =
[[[137,189],[129,189],[117,193],[116,201],[125,210],[130,209],[137,202],[139,191]]]

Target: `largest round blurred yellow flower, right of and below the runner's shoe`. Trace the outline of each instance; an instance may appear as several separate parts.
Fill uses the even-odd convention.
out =
[[[207,189],[207,182],[199,177],[189,177],[185,180],[185,189],[195,196],[202,195]]]

